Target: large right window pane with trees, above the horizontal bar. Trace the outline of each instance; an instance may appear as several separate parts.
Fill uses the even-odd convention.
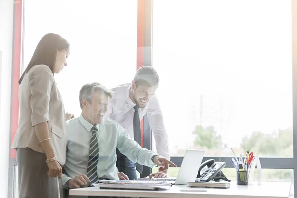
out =
[[[291,1],[160,0],[153,11],[171,155],[292,157]]]

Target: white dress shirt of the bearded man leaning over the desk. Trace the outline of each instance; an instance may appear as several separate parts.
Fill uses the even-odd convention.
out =
[[[129,97],[131,84],[124,84],[112,89],[114,97],[108,105],[106,117],[117,121],[134,138],[133,116],[135,104]],[[144,108],[139,108],[140,120],[147,113],[148,122],[156,141],[157,153],[170,160],[168,135],[163,121],[163,114],[156,96],[153,96]]]

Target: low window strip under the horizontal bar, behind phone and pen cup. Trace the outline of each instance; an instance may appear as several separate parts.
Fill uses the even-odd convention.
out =
[[[154,167],[152,172],[157,172],[158,167]],[[178,168],[169,167],[168,177],[177,177]],[[231,181],[236,181],[236,171],[234,168],[224,168],[224,175]],[[262,169],[262,181],[266,182],[292,182],[293,169]],[[255,169],[253,181],[258,181],[258,171]]]

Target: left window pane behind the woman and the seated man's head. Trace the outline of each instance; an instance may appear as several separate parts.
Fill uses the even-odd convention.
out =
[[[65,110],[76,117],[81,112],[79,90],[84,84],[97,81],[111,88],[133,79],[137,0],[28,0],[24,18],[25,66],[46,33],[60,34],[69,41],[68,66],[55,78]]]

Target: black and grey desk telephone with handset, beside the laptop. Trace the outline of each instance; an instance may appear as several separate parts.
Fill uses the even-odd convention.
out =
[[[197,178],[203,182],[219,181],[220,179],[230,182],[221,171],[225,166],[225,162],[215,162],[213,159],[209,159],[201,164]]]

